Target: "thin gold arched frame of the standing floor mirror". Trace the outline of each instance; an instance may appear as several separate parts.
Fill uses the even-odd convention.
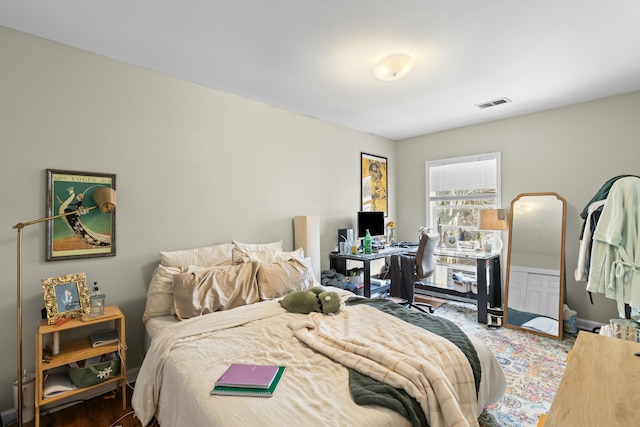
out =
[[[558,298],[558,334],[552,335],[547,334],[545,332],[536,331],[533,329],[523,328],[519,325],[509,324],[508,317],[508,304],[509,304],[509,276],[511,273],[511,245],[512,245],[512,236],[513,236],[513,215],[514,215],[514,207],[517,201],[519,201],[523,197],[531,197],[531,196],[552,196],[558,199],[562,204],[562,236],[560,241],[560,289],[559,289],[559,298]],[[566,217],[567,217],[567,201],[560,196],[558,193],[553,192],[543,192],[543,193],[521,193],[516,196],[515,199],[511,201],[511,211],[509,213],[509,247],[507,250],[507,271],[505,278],[505,289],[504,289],[504,323],[503,325],[510,329],[517,329],[520,331],[530,332],[532,334],[541,335],[549,338],[555,338],[558,340],[562,339],[562,332],[564,330],[564,321],[562,316],[562,309],[564,308],[564,288],[565,288],[565,237],[566,237]]]

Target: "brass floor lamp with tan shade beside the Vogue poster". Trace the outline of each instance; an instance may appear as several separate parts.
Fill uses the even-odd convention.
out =
[[[91,209],[99,208],[103,213],[112,213],[116,209],[116,192],[108,187],[100,187],[93,192],[93,200],[96,202],[96,206],[91,206],[88,208],[81,208],[71,212],[65,212],[60,215],[54,215],[47,218],[36,219],[34,221],[29,222],[20,222],[14,225],[12,228],[18,230],[18,248],[17,248],[17,258],[18,258],[18,279],[17,279],[17,311],[18,311],[18,425],[22,426],[22,229],[33,224],[38,224],[40,222],[50,221],[56,218],[62,218],[69,215],[84,215],[89,212]]]

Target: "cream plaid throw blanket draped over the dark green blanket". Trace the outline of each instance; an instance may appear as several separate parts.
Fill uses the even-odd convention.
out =
[[[475,380],[462,351],[395,317],[380,323],[379,313],[363,305],[346,307],[340,316],[311,313],[291,326],[309,347],[405,390],[420,403],[431,427],[477,426]]]

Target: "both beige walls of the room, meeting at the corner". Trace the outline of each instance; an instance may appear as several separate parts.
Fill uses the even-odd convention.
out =
[[[117,256],[47,263],[45,226],[24,235],[25,367],[33,368],[40,280],[86,272],[127,316],[129,365],[142,358],[146,287],[158,251],[237,239],[283,239],[295,215],[319,215],[321,252],[359,208],[360,152],[389,159],[398,238],[425,223],[426,160],[502,152],[503,206],[521,192],[568,201],[569,304],[606,321],[612,301],[588,304],[572,280],[578,213],[611,176],[638,173],[640,93],[441,132],[395,144],[234,95],[0,27],[0,410],[15,364],[15,231],[45,213],[45,169],[117,174]],[[499,107],[498,107],[499,108]],[[396,215],[398,206],[398,215]],[[323,268],[328,257],[323,256]]]

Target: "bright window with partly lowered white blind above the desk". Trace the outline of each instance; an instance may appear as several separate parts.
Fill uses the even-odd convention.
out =
[[[482,241],[479,211],[501,207],[500,153],[428,161],[427,224],[442,242]]]

